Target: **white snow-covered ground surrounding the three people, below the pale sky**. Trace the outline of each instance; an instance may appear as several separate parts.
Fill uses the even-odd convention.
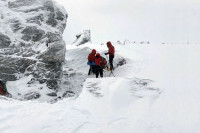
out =
[[[86,76],[78,98],[55,104],[1,97],[1,133],[199,133],[199,45],[114,44],[104,78]],[[106,45],[67,46],[69,68],[87,75],[87,55]],[[105,57],[105,55],[103,55]]]

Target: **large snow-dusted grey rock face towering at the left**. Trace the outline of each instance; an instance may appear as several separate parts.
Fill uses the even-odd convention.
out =
[[[32,76],[27,84],[39,82],[59,89],[65,60],[65,10],[52,0],[4,0],[0,1],[0,16],[4,27],[0,28],[2,80]]]

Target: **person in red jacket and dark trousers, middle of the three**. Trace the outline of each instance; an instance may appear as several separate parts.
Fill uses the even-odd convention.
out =
[[[103,77],[103,67],[101,66],[101,62],[102,62],[101,55],[99,53],[97,53],[96,57],[95,57],[96,78],[99,77],[99,73],[100,73],[100,76]]]

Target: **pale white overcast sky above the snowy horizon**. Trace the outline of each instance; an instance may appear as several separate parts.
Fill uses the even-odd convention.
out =
[[[95,43],[200,42],[198,0],[56,0],[68,12],[64,38],[90,29]]]

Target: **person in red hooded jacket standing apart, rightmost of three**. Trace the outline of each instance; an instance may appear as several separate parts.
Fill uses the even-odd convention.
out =
[[[111,42],[107,42],[108,52],[105,55],[109,54],[109,63],[110,63],[110,70],[114,70],[113,68],[113,59],[115,57],[115,47],[111,44]]]

